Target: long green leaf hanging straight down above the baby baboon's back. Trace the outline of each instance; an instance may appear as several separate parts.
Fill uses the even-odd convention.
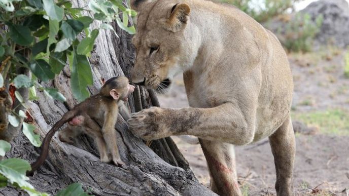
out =
[[[87,86],[93,84],[90,62],[85,55],[73,53],[73,64],[71,67],[71,88],[73,95],[78,101],[83,101],[90,96]]]

